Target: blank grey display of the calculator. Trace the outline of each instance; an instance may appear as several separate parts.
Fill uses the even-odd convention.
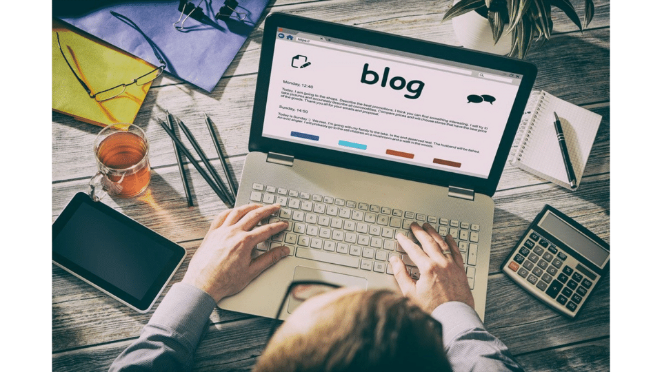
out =
[[[574,227],[565,223],[558,216],[548,211],[540,220],[538,226],[550,233],[554,238],[561,240],[596,266],[603,268],[609,258],[609,251],[598,245]]]

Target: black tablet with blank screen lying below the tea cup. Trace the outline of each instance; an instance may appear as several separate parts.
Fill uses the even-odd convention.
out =
[[[146,313],[186,251],[83,192],[52,225],[52,260],[90,285]]]

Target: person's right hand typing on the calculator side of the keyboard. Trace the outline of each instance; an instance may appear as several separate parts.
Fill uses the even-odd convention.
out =
[[[423,228],[412,223],[412,232],[421,243],[420,246],[403,234],[398,234],[396,238],[419,268],[419,280],[411,278],[399,257],[390,259],[402,293],[428,313],[450,301],[464,302],[473,308],[474,296],[469,289],[462,255],[452,236],[448,235],[444,240],[428,223],[423,224]]]

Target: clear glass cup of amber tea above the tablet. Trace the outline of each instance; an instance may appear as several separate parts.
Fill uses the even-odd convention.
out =
[[[90,179],[90,196],[99,201],[110,194],[130,198],[150,183],[150,146],[145,132],[133,124],[117,123],[103,128],[94,140],[99,172]]]

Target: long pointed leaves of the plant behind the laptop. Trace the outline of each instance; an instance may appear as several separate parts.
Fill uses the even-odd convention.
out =
[[[583,30],[590,23],[595,10],[593,0],[584,0],[584,23],[582,25],[570,0],[455,0],[441,21],[455,17],[459,19],[459,16],[467,17],[463,14],[475,11],[474,14],[480,14],[485,21],[489,22],[490,40],[494,41],[494,45],[499,41],[503,44],[501,37],[504,32],[510,34],[510,43],[507,45],[507,48],[510,48],[508,56],[523,59],[534,38],[536,41],[551,38],[552,6],[563,10],[579,30]],[[472,17],[477,18],[476,15]],[[459,29],[457,19],[453,21],[456,33]],[[487,23],[485,23],[485,28],[487,28],[486,25]],[[464,46],[471,48],[470,45]]]

